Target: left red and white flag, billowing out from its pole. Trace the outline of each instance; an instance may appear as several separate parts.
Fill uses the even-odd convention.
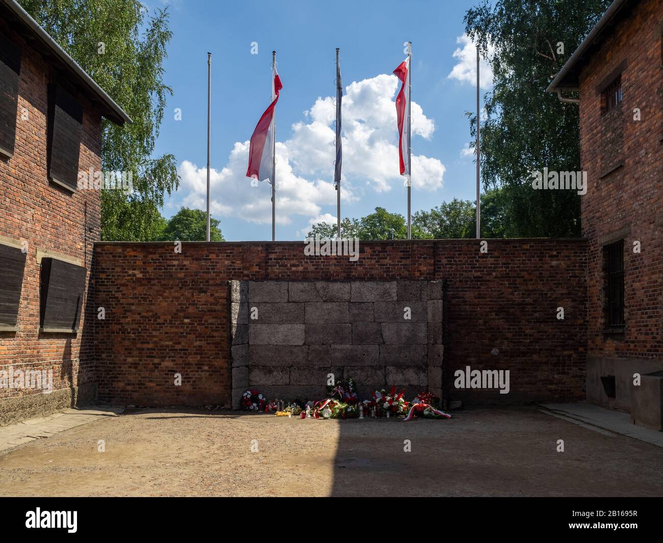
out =
[[[273,184],[274,167],[274,108],[278,101],[278,91],[283,88],[281,80],[276,73],[276,65],[272,68],[272,103],[265,109],[265,113],[251,136],[249,146],[249,168],[247,177],[256,178],[259,181],[267,179]]]

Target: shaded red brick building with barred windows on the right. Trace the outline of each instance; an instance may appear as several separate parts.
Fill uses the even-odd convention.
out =
[[[587,399],[630,410],[663,369],[663,1],[615,0],[548,90],[579,92]]]

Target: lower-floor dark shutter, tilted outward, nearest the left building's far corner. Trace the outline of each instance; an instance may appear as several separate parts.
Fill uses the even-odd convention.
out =
[[[40,320],[45,332],[78,330],[85,278],[84,267],[42,258]]]

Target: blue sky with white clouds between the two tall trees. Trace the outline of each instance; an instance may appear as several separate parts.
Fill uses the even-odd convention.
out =
[[[270,186],[251,186],[244,174],[247,142],[269,105],[272,49],[283,84],[276,107],[276,239],[303,239],[312,222],[335,221],[336,47],[345,87],[341,215],[361,217],[376,206],[406,214],[396,147],[398,84],[391,75],[404,59],[406,40],[412,41],[412,101],[420,106],[412,106],[412,211],[475,198],[473,156],[462,153],[470,139],[464,113],[476,105],[475,50],[463,38],[463,15],[475,2],[168,3],[174,35],[164,80],[173,95],[155,153],[176,156],[182,182],[164,216],[180,206],[205,208],[208,51],[211,209],[225,239],[271,239]],[[251,54],[252,42],[258,54]],[[482,76],[484,93],[491,82],[484,64]]]

